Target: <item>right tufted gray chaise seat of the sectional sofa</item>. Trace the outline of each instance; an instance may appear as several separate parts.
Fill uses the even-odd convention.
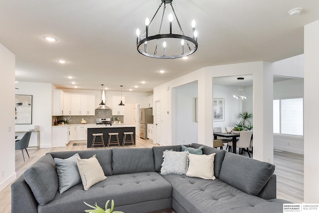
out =
[[[281,213],[283,205],[268,202],[219,179],[204,180],[185,175],[163,176],[173,186],[172,207],[178,213]]]

